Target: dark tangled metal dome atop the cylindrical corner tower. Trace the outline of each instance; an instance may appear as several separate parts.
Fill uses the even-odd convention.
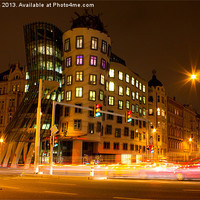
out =
[[[78,16],[76,19],[72,20],[72,26],[73,28],[92,28],[95,30],[99,30],[101,32],[104,32],[107,34],[107,31],[105,30],[103,22],[100,20],[99,15],[90,15],[88,12],[86,12],[83,15],[79,15],[75,12],[75,14]]]

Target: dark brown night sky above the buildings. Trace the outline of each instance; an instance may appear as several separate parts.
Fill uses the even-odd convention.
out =
[[[190,83],[183,85],[186,75],[181,73],[184,69],[191,71],[192,66],[200,68],[200,2],[82,3],[94,3],[94,14],[102,13],[101,19],[111,36],[112,52],[123,58],[129,68],[147,81],[155,69],[168,96],[175,96],[182,104],[192,104],[200,112],[200,84],[197,83],[196,90]],[[76,17],[75,11],[82,14],[84,9],[1,7],[0,72],[8,69],[9,63],[26,64],[24,24],[44,21],[66,31]]]

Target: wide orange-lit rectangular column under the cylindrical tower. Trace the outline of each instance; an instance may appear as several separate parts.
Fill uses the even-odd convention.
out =
[[[72,164],[81,164],[82,163],[82,140],[73,140],[72,147]]]

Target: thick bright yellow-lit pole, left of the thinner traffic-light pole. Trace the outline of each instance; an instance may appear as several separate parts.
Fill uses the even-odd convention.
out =
[[[42,100],[42,79],[39,80],[39,91],[38,91],[38,107],[37,107],[37,126],[35,134],[35,161],[34,171],[36,174],[39,172],[39,160],[40,160],[40,123],[41,123],[41,100]]]

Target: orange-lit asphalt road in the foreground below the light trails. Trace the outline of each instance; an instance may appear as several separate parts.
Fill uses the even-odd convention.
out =
[[[200,199],[200,182],[2,173],[0,199]]]

